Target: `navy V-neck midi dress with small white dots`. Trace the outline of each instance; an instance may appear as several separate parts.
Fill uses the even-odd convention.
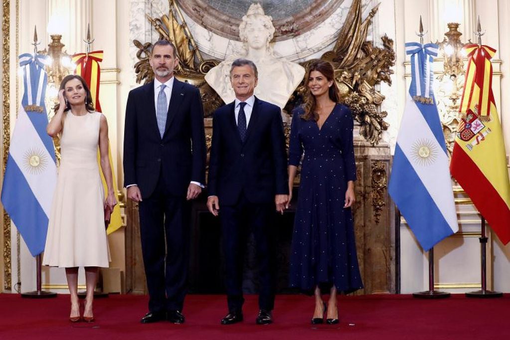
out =
[[[339,292],[363,288],[352,213],[344,208],[347,181],[356,179],[353,120],[336,104],[319,130],[315,120],[293,111],[289,164],[299,166],[301,179],[292,235],[289,283],[303,291],[334,284]]]

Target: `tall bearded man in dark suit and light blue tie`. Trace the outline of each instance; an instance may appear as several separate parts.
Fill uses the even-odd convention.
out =
[[[149,312],[142,323],[183,323],[190,200],[205,181],[206,143],[200,93],[173,75],[175,46],[152,47],[155,80],[129,93],[124,127],[124,186],[139,202]],[[166,245],[165,245],[166,240]],[[166,253],[165,253],[166,248]]]

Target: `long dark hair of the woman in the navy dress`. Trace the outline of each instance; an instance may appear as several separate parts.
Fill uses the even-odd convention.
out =
[[[317,102],[315,100],[315,96],[310,92],[310,88],[308,87],[308,80],[310,79],[310,73],[312,71],[318,71],[322,73],[326,77],[326,79],[330,82],[333,81],[333,85],[329,87],[329,99],[334,102],[339,102],[340,96],[338,94],[338,86],[335,81],[335,69],[330,62],[324,60],[316,60],[310,64],[308,67],[307,75],[304,79],[306,82],[305,88],[306,92],[304,95],[304,114],[301,116],[304,120],[315,120],[319,119],[319,114],[317,113]]]

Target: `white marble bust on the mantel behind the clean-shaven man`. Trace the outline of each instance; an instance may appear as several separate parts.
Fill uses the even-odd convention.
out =
[[[239,25],[239,37],[243,42],[240,53],[228,57],[206,74],[207,83],[225,103],[234,101],[235,94],[230,82],[232,62],[237,58],[249,59],[259,71],[255,95],[262,100],[284,108],[292,92],[301,83],[304,68],[290,61],[276,58],[270,41],[274,26],[271,16],[265,15],[260,4],[252,4]]]

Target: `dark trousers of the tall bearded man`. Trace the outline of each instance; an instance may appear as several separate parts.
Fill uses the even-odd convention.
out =
[[[191,205],[186,197],[173,196],[165,188],[160,176],[156,190],[139,208],[151,312],[182,311],[188,278]]]

